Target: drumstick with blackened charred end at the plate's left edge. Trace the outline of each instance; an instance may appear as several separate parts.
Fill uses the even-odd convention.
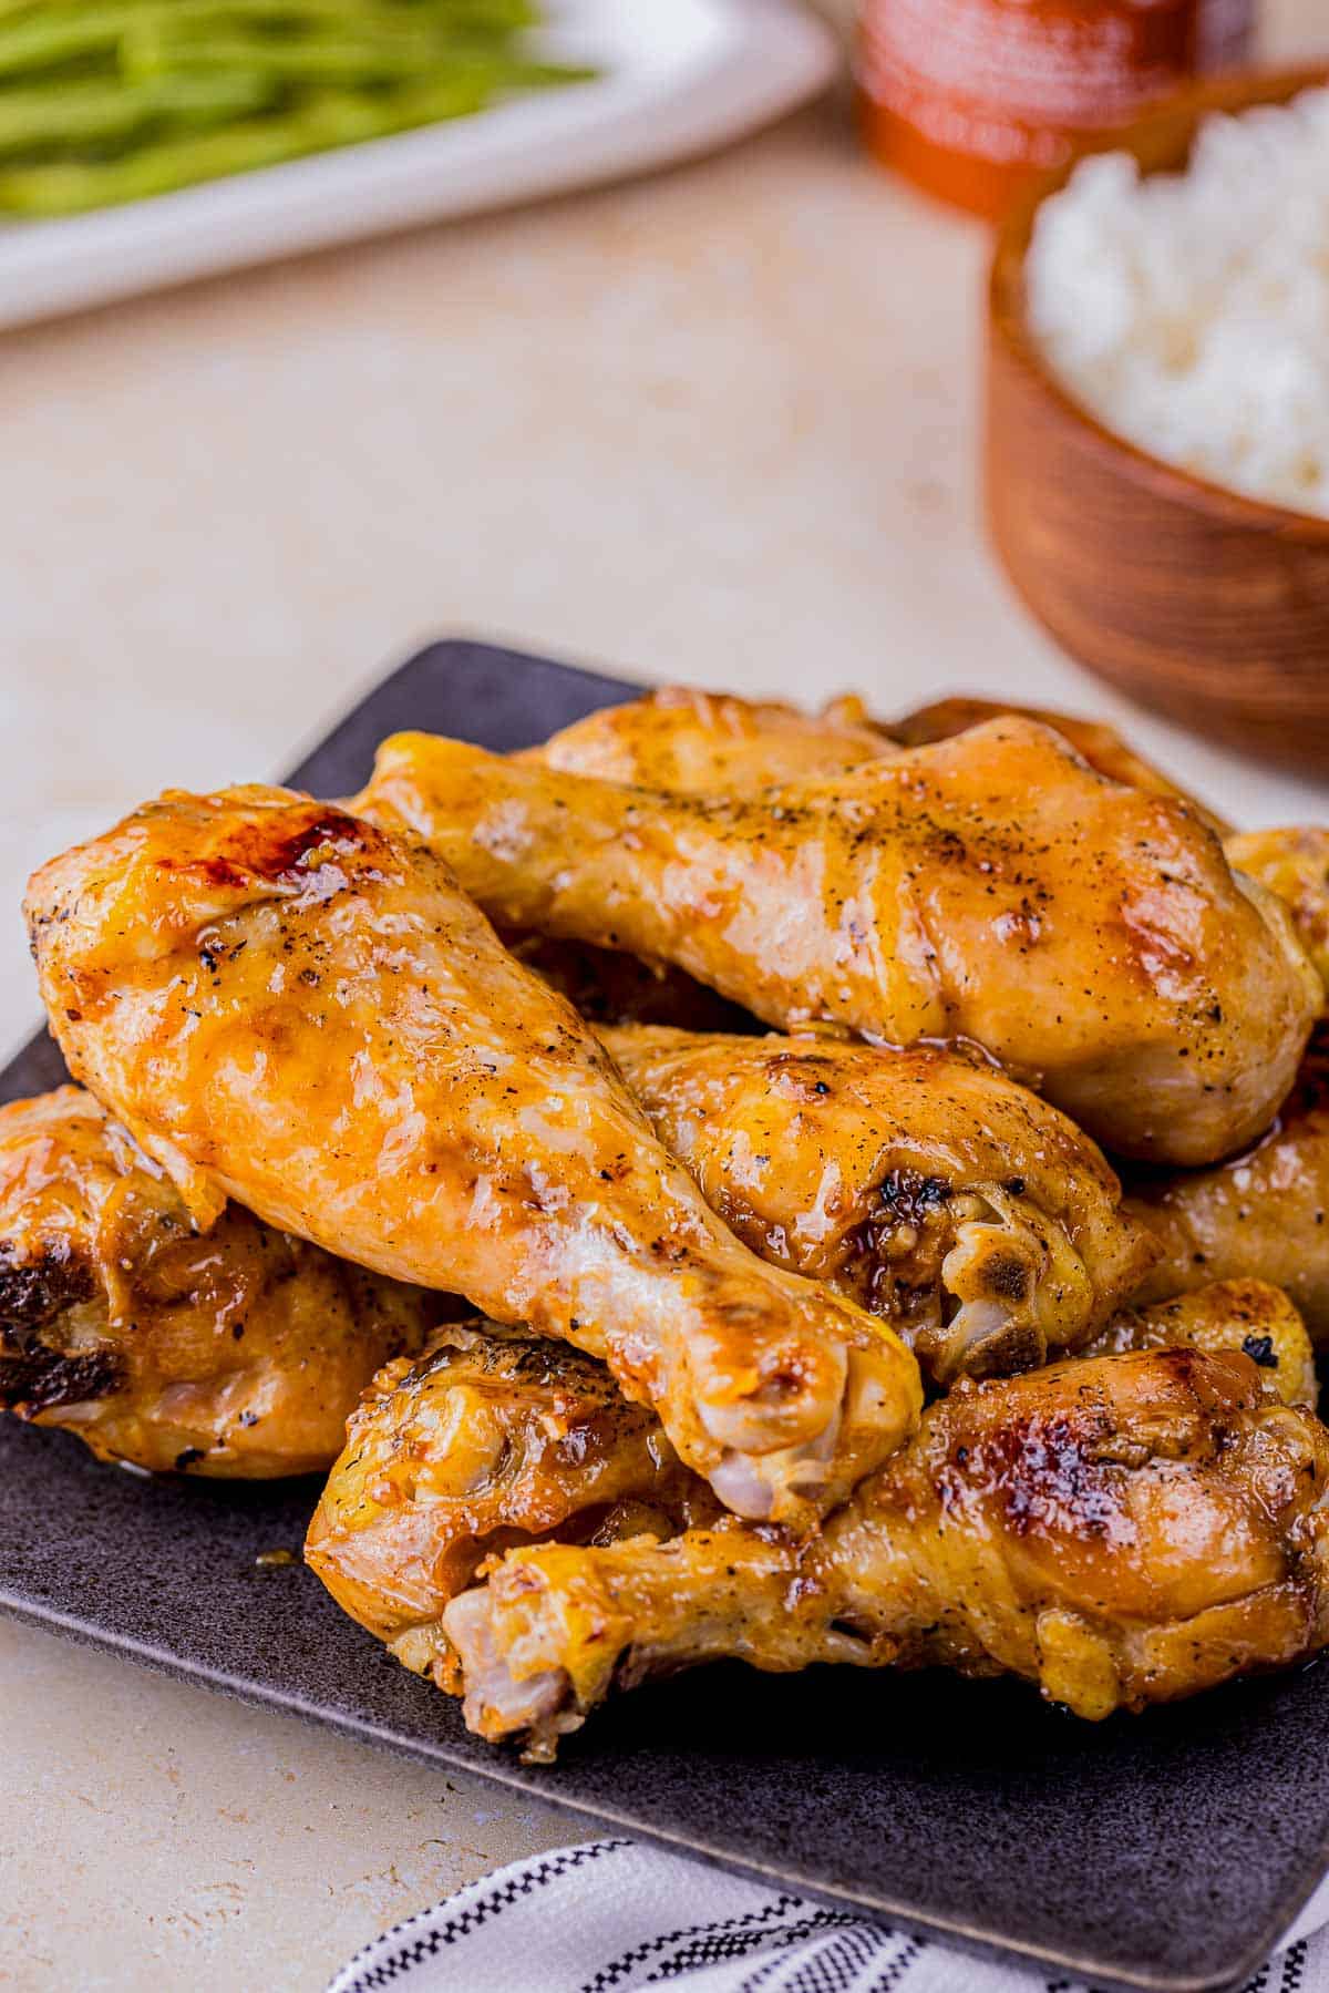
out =
[[[171,1180],[78,1086],[0,1108],[0,1407],[155,1471],[337,1459],[381,1363],[444,1297],[231,1204],[195,1232]]]

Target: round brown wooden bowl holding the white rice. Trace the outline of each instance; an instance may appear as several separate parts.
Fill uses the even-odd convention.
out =
[[[1329,68],[1237,74],[1084,151],[1180,167],[1205,112],[1281,104]],[[996,550],[1054,638],[1203,733],[1329,771],[1329,520],[1243,498],[1104,428],[1026,325],[1024,257],[1052,175],[1002,225],[988,293],[986,506]]]

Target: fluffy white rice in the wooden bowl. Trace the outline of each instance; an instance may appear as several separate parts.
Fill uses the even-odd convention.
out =
[[[1084,159],[1044,201],[1030,323],[1154,456],[1329,516],[1329,90],[1205,120],[1186,173]]]

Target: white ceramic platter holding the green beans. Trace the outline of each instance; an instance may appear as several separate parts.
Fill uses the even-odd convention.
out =
[[[68,221],[0,227],[0,325],[329,243],[506,207],[723,145],[815,96],[831,32],[797,0],[562,0],[604,74],[474,118]]]

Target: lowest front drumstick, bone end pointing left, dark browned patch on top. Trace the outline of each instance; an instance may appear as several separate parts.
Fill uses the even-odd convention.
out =
[[[614,1684],[719,1656],[1014,1672],[1102,1718],[1329,1640],[1329,1433],[1243,1355],[960,1383],[801,1547],[739,1523],[510,1551],[442,1614],[466,1720],[552,1756]]]

